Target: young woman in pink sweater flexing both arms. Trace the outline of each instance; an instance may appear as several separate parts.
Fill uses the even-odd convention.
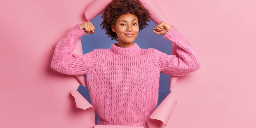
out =
[[[103,11],[100,26],[117,43],[84,55],[71,53],[78,38],[94,33],[89,21],[76,24],[56,45],[51,67],[68,75],[87,74],[97,124],[148,126],[146,120],[157,105],[160,73],[184,76],[200,67],[184,36],[164,21],[152,31],[176,44],[178,55],[141,49],[133,42],[150,16],[139,0],[113,0]]]

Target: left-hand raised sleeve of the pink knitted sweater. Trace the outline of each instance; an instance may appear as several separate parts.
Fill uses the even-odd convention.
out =
[[[84,55],[72,53],[78,38],[84,35],[86,33],[80,28],[79,23],[68,31],[67,35],[55,46],[51,62],[52,69],[67,75],[87,74],[92,65],[92,60],[94,60],[94,50]]]

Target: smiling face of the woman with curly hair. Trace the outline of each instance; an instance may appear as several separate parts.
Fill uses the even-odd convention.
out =
[[[125,13],[116,19],[115,26],[111,26],[116,32],[118,43],[133,43],[139,33],[138,17],[132,13]]]

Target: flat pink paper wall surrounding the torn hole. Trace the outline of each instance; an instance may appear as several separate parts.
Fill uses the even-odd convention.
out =
[[[82,128],[91,123],[70,95],[80,85],[77,78],[50,68],[55,44],[76,23],[84,22],[90,2],[0,4],[0,127]],[[199,70],[180,76],[172,88],[178,102],[167,125],[255,128],[256,2],[156,3],[201,62]]]

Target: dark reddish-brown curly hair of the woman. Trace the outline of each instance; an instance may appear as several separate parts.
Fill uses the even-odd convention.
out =
[[[103,10],[101,15],[103,21],[100,24],[101,30],[105,29],[105,34],[111,37],[111,40],[115,39],[117,41],[118,39],[116,32],[112,31],[111,25],[115,25],[116,19],[127,12],[138,17],[139,32],[148,26],[147,22],[150,21],[151,13],[142,5],[140,0],[112,0]]]

